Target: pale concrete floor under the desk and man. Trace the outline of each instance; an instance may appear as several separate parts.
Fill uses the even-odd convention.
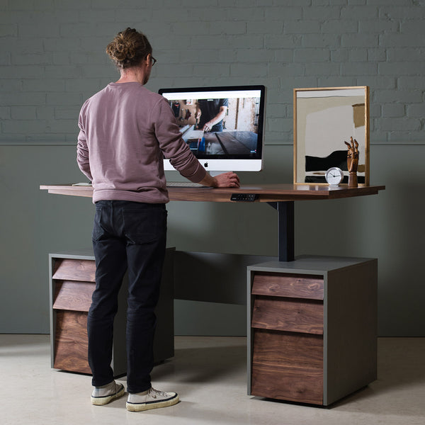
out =
[[[246,395],[246,338],[176,336],[176,356],[152,379],[181,402],[139,413],[127,412],[126,397],[91,405],[91,377],[51,369],[49,343],[48,335],[0,335],[1,424],[425,424],[425,338],[379,339],[378,380],[312,407]]]

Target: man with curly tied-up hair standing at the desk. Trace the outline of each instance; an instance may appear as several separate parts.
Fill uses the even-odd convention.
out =
[[[87,319],[91,402],[107,404],[125,392],[113,380],[111,358],[118,290],[128,271],[126,407],[138,412],[179,402],[176,392],[154,390],[150,378],[169,202],[163,157],[205,186],[239,187],[239,178],[232,172],[207,174],[181,139],[169,103],[145,88],[156,62],[145,35],[127,28],[106,52],[120,79],[84,103],[77,146],[77,162],[92,182],[96,205],[96,289]]]

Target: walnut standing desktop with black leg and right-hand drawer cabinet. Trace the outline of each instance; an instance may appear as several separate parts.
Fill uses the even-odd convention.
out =
[[[91,198],[91,186],[40,186]],[[294,203],[376,195],[385,186],[171,187],[171,201],[254,195],[278,212],[278,261],[248,267],[248,394],[328,405],[377,374],[376,259],[294,256]],[[249,203],[249,202],[246,202]]]

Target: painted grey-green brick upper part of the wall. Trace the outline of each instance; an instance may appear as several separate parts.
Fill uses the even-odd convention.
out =
[[[74,144],[130,26],[159,61],[152,91],[266,85],[266,144],[293,142],[293,88],[345,85],[370,86],[372,144],[423,144],[424,18],[424,0],[2,0],[0,143]]]

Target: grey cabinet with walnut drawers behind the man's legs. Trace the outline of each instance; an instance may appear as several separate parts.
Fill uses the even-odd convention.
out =
[[[166,250],[161,294],[157,305],[154,361],[174,356],[174,248]],[[87,360],[87,314],[95,288],[93,251],[90,249],[49,254],[50,346],[52,368],[91,373]],[[119,293],[115,316],[112,368],[115,376],[126,373],[125,317],[127,276]]]

